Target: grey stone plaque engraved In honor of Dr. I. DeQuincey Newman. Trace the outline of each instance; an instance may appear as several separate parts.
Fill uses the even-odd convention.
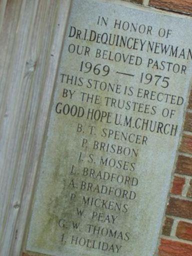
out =
[[[191,78],[191,20],[73,0],[26,249],[154,254]]]

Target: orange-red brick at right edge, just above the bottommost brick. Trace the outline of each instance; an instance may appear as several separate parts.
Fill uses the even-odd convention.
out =
[[[176,236],[180,239],[192,241],[192,224],[179,221],[176,228]]]

